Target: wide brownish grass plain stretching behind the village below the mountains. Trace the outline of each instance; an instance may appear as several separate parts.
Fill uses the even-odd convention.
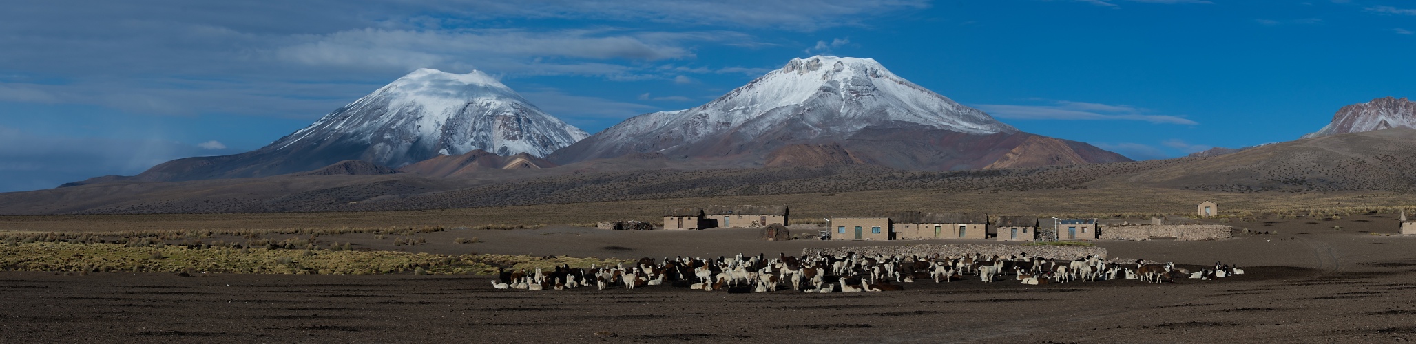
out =
[[[1147,218],[1189,215],[1195,204],[1211,200],[1222,214],[1307,214],[1378,210],[1416,210],[1409,194],[1385,191],[1341,193],[1216,193],[1126,187],[1120,183],[1087,188],[940,193],[885,190],[838,194],[786,194],[765,197],[702,197],[612,202],[544,204],[426,211],[278,212],[278,214],[163,214],[163,215],[35,215],[0,217],[0,231],[10,232],[109,232],[109,231],[275,231],[309,232],[341,228],[443,227],[513,229],[548,224],[589,227],[606,219],[660,222],[663,211],[718,204],[786,204],[793,222],[830,217],[869,215],[882,211],[959,211],[997,215],[1054,215],[1096,218]]]

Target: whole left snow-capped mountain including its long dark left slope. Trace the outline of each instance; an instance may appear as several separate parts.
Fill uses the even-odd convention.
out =
[[[541,157],[586,136],[483,72],[418,69],[262,149],[178,159],[135,180],[263,177],[344,160],[402,167],[474,150]]]

